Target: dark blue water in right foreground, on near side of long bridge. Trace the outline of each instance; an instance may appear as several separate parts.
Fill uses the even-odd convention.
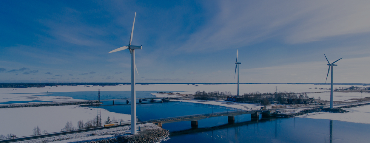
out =
[[[333,122],[336,123],[334,128]],[[218,126],[198,127],[198,129],[170,130],[169,137],[171,139],[164,143],[331,143],[332,141],[334,143],[367,143],[370,139],[368,136],[369,127],[368,124],[336,120],[328,122],[326,119],[261,118],[260,120],[247,120],[234,124],[224,123]],[[166,129],[166,127],[163,128]]]

